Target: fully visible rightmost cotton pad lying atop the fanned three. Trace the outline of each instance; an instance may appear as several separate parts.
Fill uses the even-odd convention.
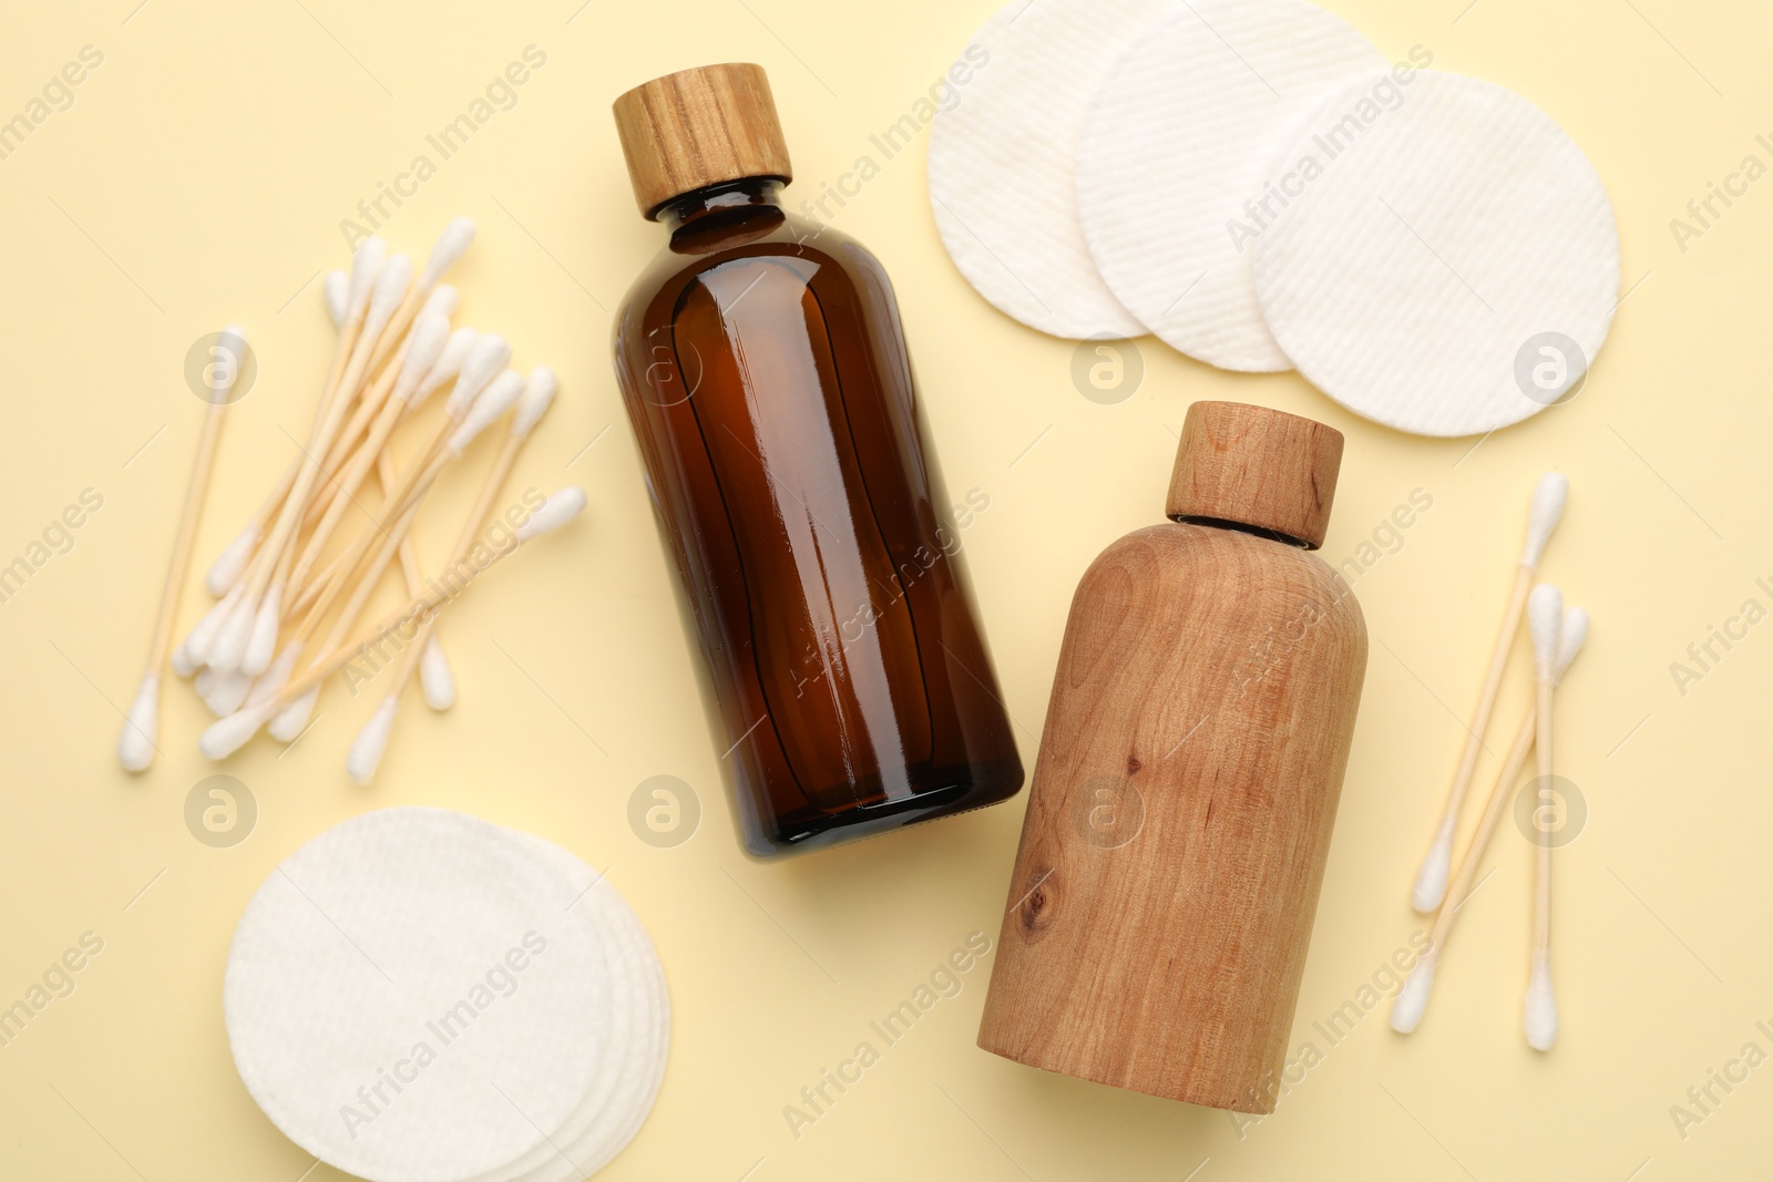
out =
[[[1301,195],[1255,239],[1262,314],[1356,415],[1427,436],[1507,427],[1569,397],[1606,338],[1606,188],[1512,90],[1386,80],[1339,90],[1285,152]]]

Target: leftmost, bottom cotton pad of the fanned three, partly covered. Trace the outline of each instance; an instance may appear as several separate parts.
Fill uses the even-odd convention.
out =
[[[1055,337],[1135,337],[1078,225],[1083,112],[1121,53],[1181,0],[1009,0],[949,73],[929,204],[966,282]],[[965,85],[957,82],[965,78]]]

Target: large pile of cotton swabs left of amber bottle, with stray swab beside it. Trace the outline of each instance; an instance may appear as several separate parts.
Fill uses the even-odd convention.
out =
[[[160,680],[168,663],[179,677],[195,679],[197,693],[220,716],[199,748],[209,758],[225,758],[266,725],[284,743],[296,739],[330,673],[360,652],[385,654],[394,647],[399,656],[387,698],[346,762],[351,778],[367,783],[415,672],[433,709],[449,709],[456,698],[436,640],[436,613],[470,579],[585,507],[583,491],[560,489],[525,514],[502,546],[480,540],[505,477],[553,402],[557,383],[541,365],[528,377],[507,369],[511,346],[504,337],[450,330],[457,296],[440,280],[472,241],[473,222],[452,222],[415,280],[411,259],[387,255],[381,239],[372,237],[358,246],[349,275],[326,276],[326,303],[339,338],[314,429],[277,487],[209,567],[206,581],[216,603],[174,649],[179,590],[230,385],[239,374],[239,365],[215,367],[147,668],[117,741],[117,758],[126,769],[145,769],[158,751]],[[245,356],[245,331],[225,330],[218,347],[232,358]],[[441,413],[422,415],[426,400],[445,386],[450,392]],[[512,413],[504,445],[454,548],[441,564],[426,567],[411,539],[426,494],[505,411]],[[401,448],[411,457],[404,466],[388,447],[397,434],[410,439]],[[365,498],[371,484],[379,487],[379,505]],[[351,537],[348,526],[358,523],[362,528]],[[399,565],[410,603],[358,627],[390,565]]]

